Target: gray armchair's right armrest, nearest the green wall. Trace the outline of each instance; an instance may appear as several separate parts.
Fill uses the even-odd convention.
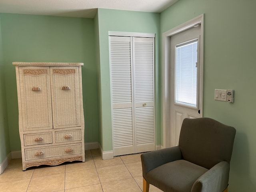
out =
[[[191,192],[222,192],[228,186],[228,176],[229,163],[219,162],[194,182]]]

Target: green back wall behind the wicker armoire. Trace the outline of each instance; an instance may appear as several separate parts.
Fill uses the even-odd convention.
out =
[[[94,20],[24,14],[0,16],[10,150],[20,150],[16,74],[12,65],[15,61],[83,62],[85,142],[98,141]]]

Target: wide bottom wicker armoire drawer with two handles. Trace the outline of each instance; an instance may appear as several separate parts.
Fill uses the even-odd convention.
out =
[[[82,154],[82,143],[25,149],[25,160]]]

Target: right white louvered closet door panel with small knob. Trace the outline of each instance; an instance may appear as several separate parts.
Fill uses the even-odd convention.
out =
[[[154,38],[134,38],[135,152],[155,150]]]

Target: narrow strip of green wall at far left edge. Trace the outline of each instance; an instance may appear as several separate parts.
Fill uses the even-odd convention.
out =
[[[10,153],[3,56],[4,54],[2,48],[2,32],[0,17],[0,164]]]

